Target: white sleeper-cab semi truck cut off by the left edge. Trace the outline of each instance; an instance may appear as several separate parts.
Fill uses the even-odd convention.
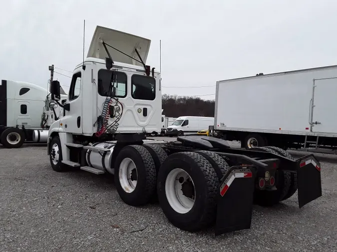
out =
[[[47,90],[40,86],[1,80],[0,143],[6,148],[19,148],[24,142],[46,143],[48,127],[60,112],[50,102]]]

